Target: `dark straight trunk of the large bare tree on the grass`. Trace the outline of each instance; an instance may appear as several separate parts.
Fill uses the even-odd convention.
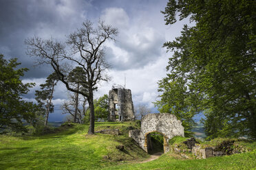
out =
[[[92,92],[92,88],[89,89],[89,96],[88,96],[88,103],[89,103],[89,131],[88,134],[94,134],[94,94]]]

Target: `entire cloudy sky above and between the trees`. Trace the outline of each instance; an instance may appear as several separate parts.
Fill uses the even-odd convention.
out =
[[[100,82],[94,98],[108,94],[112,84],[120,84],[131,89],[135,107],[143,104],[158,112],[153,105],[160,99],[158,81],[167,75],[166,66],[172,55],[162,45],[175,40],[183,25],[189,24],[184,19],[165,25],[160,11],[166,5],[167,0],[0,0],[0,53],[7,59],[18,58],[21,67],[30,69],[22,80],[35,82],[36,86],[23,98],[35,101],[34,90],[45,83],[52,68],[36,65],[36,59],[25,53],[24,40],[36,35],[65,42],[66,36],[84,21],[105,21],[118,28],[119,34],[116,42],[105,43],[111,81]],[[54,91],[54,113],[49,121],[63,121],[66,115],[61,114],[60,106],[65,99],[67,90],[60,82]]]

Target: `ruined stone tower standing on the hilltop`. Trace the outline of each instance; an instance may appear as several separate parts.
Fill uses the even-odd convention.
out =
[[[131,90],[114,84],[109,90],[109,121],[134,120],[134,104]]]

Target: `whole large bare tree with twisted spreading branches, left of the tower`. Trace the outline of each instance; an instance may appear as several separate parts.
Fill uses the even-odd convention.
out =
[[[86,21],[83,27],[67,36],[67,42],[61,43],[56,40],[43,40],[39,37],[28,38],[25,44],[28,45],[27,54],[39,58],[39,64],[50,64],[57,73],[58,78],[67,88],[74,93],[78,93],[87,98],[90,108],[90,125],[88,134],[94,134],[94,90],[100,80],[107,81],[109,77],[104,73],[109,68],[105,62],[103,44],[106,40],[114,40],[118,30],[111,25],[98,23],[98,27],[93,27],[93,23]],[[67,53],[67,51],[70,53]],[[79,79],[79,84],[83,84],[84,90],[72,87],[67,81],[70,68],[67,69],[67,61],[72,65],[81,66],[86,73],[84,79]]]

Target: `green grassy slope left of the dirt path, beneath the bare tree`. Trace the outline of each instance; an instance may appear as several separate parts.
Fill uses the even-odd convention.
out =
[[[100,125],[120,123],[96,123],[96,129]],[[149,157],[126,136],[86,136],[88,125],[60,128],[43,136],[0,136],[0,169],[101,169],[121,163],[118,160]],[[125,145],[125,151],[116,145]]]

